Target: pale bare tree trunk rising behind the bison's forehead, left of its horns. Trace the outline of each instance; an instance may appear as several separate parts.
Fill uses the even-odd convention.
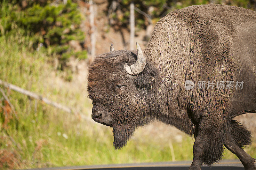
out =
[[[94,8],[93,8],[93,1],[89,1],[90,7],[90,25],[91,25],[91,59],[95,57],[95,44],[96,44],[96,38],[95,38],[95,24],[94,24]]]

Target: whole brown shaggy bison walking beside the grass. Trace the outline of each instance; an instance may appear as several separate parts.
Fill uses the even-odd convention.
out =
[[[245,169],[256,169],[243,150],[251,132],[233,120],[256,113],[255,11],[212,4],[172,11],[156,23],[144,51],[138,43],[137,51],[111,44],[97,56],[87,89],[92,119],[113,128],[115,149],[156,119],[195,138],[189,169],[220,161],[224,146]]]

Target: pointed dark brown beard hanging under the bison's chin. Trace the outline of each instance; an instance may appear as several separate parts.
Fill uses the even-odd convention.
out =
[[[135,127],[131,125],[118,123],[115,123],[112,128],[114,135],[113,145],[115,149],[121,149],[127,143],[129,137],[132,136],[135,129]]]

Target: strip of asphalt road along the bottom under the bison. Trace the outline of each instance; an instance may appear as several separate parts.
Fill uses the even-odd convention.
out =
[[[41,168],[35,170],[187,170],[192,161],[182,162],[154,162],[136,164],[114,164],[93,166],[72,166]],[[237,160],[222,160],[213,166],[203,166],[202,170],[244,170],[244,166]]]

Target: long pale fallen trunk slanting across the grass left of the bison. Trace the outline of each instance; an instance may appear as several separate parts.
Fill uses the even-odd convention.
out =
[[[18,86],[16,86],[16,85],[12,85],[12,84],[10,84],[10,83],[6,83],[6,82],[4,82],[4,81],[2,81],[2,80],[0,80],[0,85],[4,85],[4,87],[6,87],[6,88],[10,88],[10,89],[12,89],[12,90],[14,90],[14,91],[16,91],[16,92],[20,92],[20,93],[22,93],[22,94],[25,94],[25,95],[31,97],[31,98],[34,98],[34,99],[37,99],[37,100],[41,100],[41,101],[43,101],[43,102],[46,103],[46,104],[49,104],[49,105],[52,105],[53,107],[57,107],[57,108],[59,108],[59,109],[62,109],[62,110],[64,110],[64,111],[68,112],[68,113],[72,113],[72,109],[71,109],[71,108],[66,107],[66,106],[63,106],[63,105],[61,105],[61,104],[59,104],[59,103],[56,103],[56,102],[54,102],[54,101],[51,101],[51,100],[49,100],[49,99],[47,99],[47,98],[42,97],[41,95],[37,95],[36,93],[33,93],[33,92],[28,91],[28,90],[22,89],[22,88],[20,88],[20,87],[18,87]],[[3,90],[3,89],[2,89],[2,90]],[[1,92],[2,92],[2,91],[1,91]],[[8,100],[7,100],[7,101],[8,101]],[[9,101],[10,101],[10,100],[9,100]],[[8,102],[9,102],[9,101],[8,101]],[[10,103],[10,102],[9,102],[9,103]],[[10,106],[11,106],[11,103],[10,103]],[[11,106],[11,107],[13,107],[13,106]],[[12,109],[13,109],[13,108],[12,108]],[[15,115],[15,116],[16,116],[16,115]]]

